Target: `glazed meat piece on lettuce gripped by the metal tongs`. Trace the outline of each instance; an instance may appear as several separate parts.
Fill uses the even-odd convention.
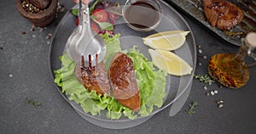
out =
[[[102,95],[105,93],[107,93],[108,96],[110,95],[108,73],[104,68],[103,62],[96,64],[96,66],[89,67],[84,67],[84,64],[77,64],[75,68],[75,75],[89,91],[95,90],[97,93],[101,93]]]

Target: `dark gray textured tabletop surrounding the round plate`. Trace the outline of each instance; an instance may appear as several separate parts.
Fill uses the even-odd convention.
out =
[[[66,8],[71,0],[60,0]],[[55,31],[49,25],[44,31],[29,31],[31,24],[15,8],[15,1],[0,3],[0,133],[254,133],[256,131],[256,70],[251,79],[237,90],[219,89],[217,96],[206,97],[205,84],[193,81],[192,90],[183,109],[169,117],[165,109],[140,126],[125,130],[109,130],[82,119],[55,90],[49,75],[49,45],[45,39]],[[182,14],[195,34],[196,43],[210,58],[214,53],[236,52],[236,46],[220,40],[194,20]],[[60,19],[57,19],[60,20]],[[55,20],[55,21],[57,21]],[[25,35],[21,32],[26,31]],[[32,37],[35,35],[36,37]],[[198,58],[196,74],[207,73],[207,60]],[[252,60],[249,60],[250,62]],[[13,77],[9,77],[12,74]],[[218,89],[212,85],[208,90]],[[39,107],[25,104],[26,97],[42,103]],[[218,109],[215,100],[224,100]],[[189,103],[199,103],[196,113],[186,114]]]

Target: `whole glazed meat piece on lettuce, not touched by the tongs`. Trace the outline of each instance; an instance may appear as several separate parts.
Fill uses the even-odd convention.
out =
[[[109,79],[113,97],[125,107],[138,111],[140,92],[132,60],[125,53],[115,53],[109,68]]]

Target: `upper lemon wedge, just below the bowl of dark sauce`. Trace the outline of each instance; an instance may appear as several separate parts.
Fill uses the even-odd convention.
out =
[[[143,43],[154,49],[167,51],[182,47],[189,31],[164,31],[143,38]]]

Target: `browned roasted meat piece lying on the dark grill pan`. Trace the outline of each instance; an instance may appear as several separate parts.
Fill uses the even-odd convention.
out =
[[[202,4],[212,27],[217,25],[221,30],[234,28],[244,16],[241,8],[225,0],[202,0]]]

